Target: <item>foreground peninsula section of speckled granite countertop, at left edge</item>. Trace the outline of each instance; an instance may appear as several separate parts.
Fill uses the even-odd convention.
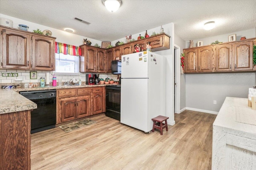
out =
[[[0,89],[0,114],[36,109],[37,105],[12,89]]]

